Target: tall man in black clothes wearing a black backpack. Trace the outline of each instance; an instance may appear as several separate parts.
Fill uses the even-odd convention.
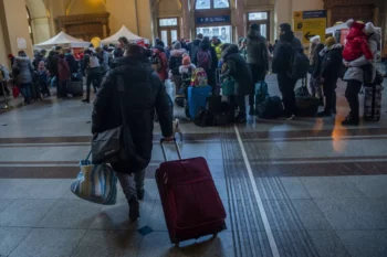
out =
[[[279,87],[282,93],[282,100],[287,119],[294,119],[297,107],[295,103],[294,87],[297,79],[290,78],[287,75],[293,51],[303,52],[303,46],[299,39],[294,36],[289,23],[280,25],[280,41],[274,47],[273,73],[276,73]]]

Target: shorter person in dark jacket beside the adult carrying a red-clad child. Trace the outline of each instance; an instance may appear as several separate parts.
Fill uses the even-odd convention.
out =
[[[335,38],[327,38],[325,40],[325,51],[321,51],[323,62],[320,73],[325,97],[325,107],[324,111],[317,114],[317,117],[331,117],[332,114],[336,114],[336,84],[343,60],[343,45],[337,44]]]

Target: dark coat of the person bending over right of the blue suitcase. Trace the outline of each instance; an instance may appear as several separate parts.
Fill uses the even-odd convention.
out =
[[[249,65],[240,55],[238,46],[232,44],[222,51],[222,58],[227,62],[227,72],[222,76],[231,76],[238,83],[237,94],[247,96],[252,90],[252,74]]]

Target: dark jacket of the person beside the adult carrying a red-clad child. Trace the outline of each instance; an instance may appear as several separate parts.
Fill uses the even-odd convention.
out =
[[[324,84],[336,84],[339,73],[339,67],[343,61],[343,45],[334,44],[332,47],[327,50],[324,55],[322,68],[321,68],[321,77],[324,78]]]

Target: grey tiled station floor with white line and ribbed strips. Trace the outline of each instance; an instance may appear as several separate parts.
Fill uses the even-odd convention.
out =
[[[268,82],[279,94],[275,77]],[[228,214],[228,229],[217,238],[180,248],[169,242],[154,179],[163,161],[158,125],[142,216],[130,223],[121,191],[113,206],[70,192],[90,149],[90,105],[45,99],[3,113],[0,256],[387,256],[386,108],[380,122],[344,128],[344,89],[339,84],[335,118],[251,118],[247,126],[198,128],[176,109],[182,154],[208,160]],[[171,146],[167,156],[176,158]]]

